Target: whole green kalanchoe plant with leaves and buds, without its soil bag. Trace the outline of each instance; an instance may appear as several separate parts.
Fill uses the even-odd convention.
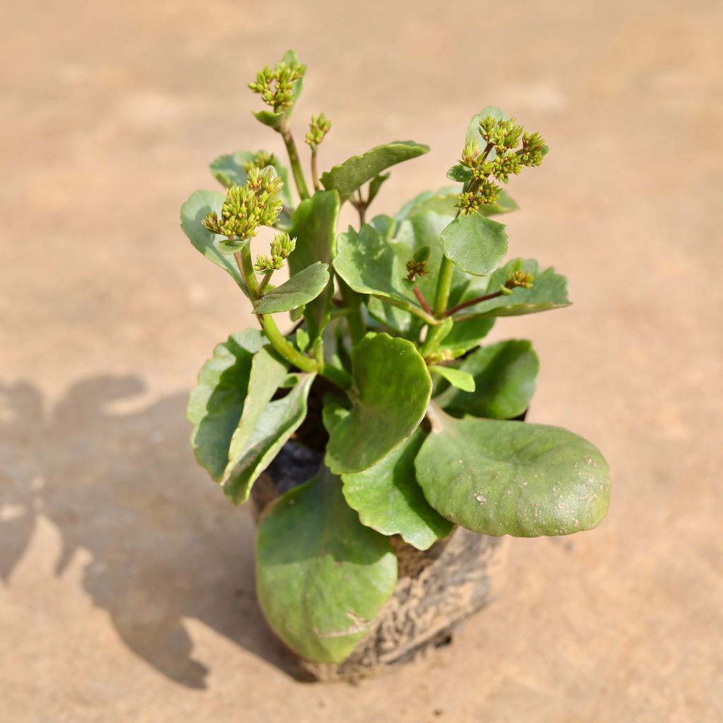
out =
[[[607,511],[609,471],[572,432],[513,421],[535,390],[529,341],[480,346],[497,317],[570,303],[553,268],[504,262],[508,234],[490,218],[517,208],[502,185],[542,163],[539,133],[485,108],[448,173],[461,185],[367,223],[388,168],[429,148],[391,142],[318,176],[331,124],[314,115],[311,194],[291,133],[305,72],[289,51],[250,84],[270,106],[254,116],[286,145],[296,208],[275,155],[236,151],[211,164],[225,194],[195,192],[181,209],[194,247],[234,278],[260,325],[215,348],[188,415],[199,463],[236,504],[288,440],[324,451],[318,473],[262,518],[257,592],[291,649],[339,662],[393,593],[390,536],[424,550],[455,525],[526,537],[590,529]],[[360,223],[339,234],[345,202]],[[278,234],[254,262],[260,226]],[[284,265],[288,281],[275,286]],[[283,333],[289,315],[296,328]]]

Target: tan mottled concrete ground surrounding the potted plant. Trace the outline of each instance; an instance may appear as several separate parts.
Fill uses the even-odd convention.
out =
[[[261,7],[259,7],[261,6]],[[723,6],[5,0],[0,46],[0,717],[30,722],[714,722],[720,510]],[[309,64],[322,166],[432,153],[378,202],[445,184],[497,104],[552,153],[515,179],[510,248],[576,305],[500,322],[542,359],[531,416],[594,440],[609,518],[516,540],[453,646],[357,686],[288,676],[253,529],[194,465],[187,391],[249,323],[178,228],[252,119],[252,73]]]

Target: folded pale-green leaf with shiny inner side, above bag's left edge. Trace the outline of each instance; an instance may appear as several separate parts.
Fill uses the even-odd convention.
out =
[[[270,358],[270,354],[267,357]],[[280,372],[265,380],[265,375],[270,374],[267,361],[264,359],[252,370],[244,416],[231,440],[229,462],[223,477],[223,492],[236,505],[248,499],[252,484],[307,416],[307,399],[315,375],[299,374],[299,382],[285,397],[269,401],[268,392],[278,381]],[[259,381],[252,387],[254,376]]]

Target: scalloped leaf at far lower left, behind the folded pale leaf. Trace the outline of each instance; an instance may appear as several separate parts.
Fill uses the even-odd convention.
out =
[[[198,384],[189,397],[191,445],[198,463],[216,481],[223,477],[231,437],[241,419],[252,359],[264,342],[260,331],[247,329],[218,344],[201,367]]]

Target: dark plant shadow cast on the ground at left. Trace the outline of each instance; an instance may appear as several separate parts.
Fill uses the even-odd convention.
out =
[[[137,377],[40,391],[0,385],[0,578],[12,585],[43,515],[61,534],[61,575],[90,554],[84,589],[120,638],[163,675],[205,688],[184,619],[202,621],[288,675],[256,602],[254,528],[193,458],[185,395],[144,403]]]

